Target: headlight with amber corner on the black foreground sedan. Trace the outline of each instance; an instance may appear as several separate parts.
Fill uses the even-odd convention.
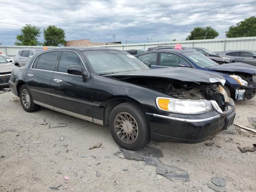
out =
[[[200,114],[212,111],[212,104],[208,100],[181,100],[172,98],[156,98],[156,104],[160,110],[183,113]]]

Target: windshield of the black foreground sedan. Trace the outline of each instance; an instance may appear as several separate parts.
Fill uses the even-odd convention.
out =
[[[98,75],[149,69],[146,64],[122,51],[91,50],[83,54]]]

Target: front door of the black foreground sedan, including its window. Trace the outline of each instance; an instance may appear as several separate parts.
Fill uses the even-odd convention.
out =
[[[51,93],[53,106],[59,111],[92,121],[92,77],[67,73],[69,66],[79,65],[86,70],[79,52],[61,52],[58,66],[52,75]]]

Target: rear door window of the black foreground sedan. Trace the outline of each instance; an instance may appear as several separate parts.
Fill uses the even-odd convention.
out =
[[[52,51],[41,54],[36,64],[36,69],[52,71],[58,57],[59,51]],[[37,60],[37,59],[36,59]]]

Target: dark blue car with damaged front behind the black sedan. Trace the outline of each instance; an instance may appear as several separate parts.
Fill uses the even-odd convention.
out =
[[[234,100],[251,99],[256,94],[256,67],[244,63],[218,64],[192,49],[161,49],[135,56],[150,68],[188,67],[225,77],[223,88]]]

